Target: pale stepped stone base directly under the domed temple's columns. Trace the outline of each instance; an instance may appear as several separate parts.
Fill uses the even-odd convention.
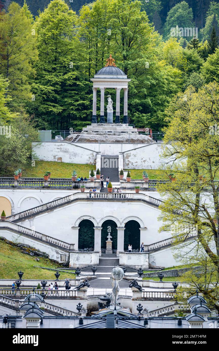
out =
[[[83,132],[87,132],[89,134],[114,134],[119,135],[120,133],[134,133],[138,134],[137,129],[129,126],[128,124],[122,123],[91,123],[90,126],[86,126],[83,128]],[[118,133],[118,134],[115,134]]]

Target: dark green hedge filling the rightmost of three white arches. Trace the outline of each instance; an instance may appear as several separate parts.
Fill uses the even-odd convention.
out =
[[[128,250],[128,244],[133,250],[140,249],[140,224],[136,220],[129,220],[125,223],[124,250]]]

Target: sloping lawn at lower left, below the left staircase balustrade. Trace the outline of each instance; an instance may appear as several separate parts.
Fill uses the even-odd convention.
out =
[[[24,272],[23,279],[55,279],[55,271],[49,271],[43,268],[33,266],[41,266],[56,269],[60,265],[50,261],[47,258],[40,258],[39,256],[29,256],[22,253],[18,247],[13,247],[5,241],[0,240],[0,279],[19,279],[17,272],[20,270]],[[60,266],[61,267],[61,266]],[[61,272],[59,279],[75,278],[75,274],[68,272]]]

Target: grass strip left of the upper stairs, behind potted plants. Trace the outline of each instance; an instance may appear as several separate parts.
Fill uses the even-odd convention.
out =
[[[31,165],[23,170],[22,177],[43,178],[46,171],[51,172],[51,178],[71,178],[73,170],[77,171],[78,177],[89,178],[89,170],[96,166],[81,165],[75,163],[35,161],[35,166]]]

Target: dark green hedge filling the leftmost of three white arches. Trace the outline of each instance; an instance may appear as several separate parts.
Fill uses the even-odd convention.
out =
[[[86,249],[86,247],[94,248],[94,223],[89,219],[83,219],[78,230],[78,249]]]

